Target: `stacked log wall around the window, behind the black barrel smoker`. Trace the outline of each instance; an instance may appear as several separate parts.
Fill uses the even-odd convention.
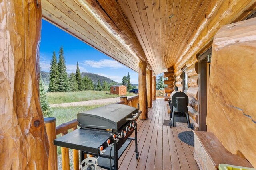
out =
[[[186,70],[188,75],[188,90],[185,92],[189,98],[188,113],[191,123],[194,125],[194,129],[198,129],[198,60],[192,57],[187,63]],[[178,70],[175,73],[174,84],[178,87],[179,91],[182,91],[182,71]]]

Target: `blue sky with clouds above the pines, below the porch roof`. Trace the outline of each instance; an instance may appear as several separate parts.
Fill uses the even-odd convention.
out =
[[[106,76],[116,82],[130,72],[132,84],[138,84],[138,73],[114,61],[100,51],[90,47],[76,37],[62,31],[58,27],[42,20],[42,36],[40,43],[40,66],[43,71],[49,72],[53,51],[58,51],[63,45],[67,72],[76,72],[76,62],[80,72],[91,72]]]

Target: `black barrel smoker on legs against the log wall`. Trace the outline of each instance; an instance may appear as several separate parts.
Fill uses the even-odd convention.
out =
[[[190,128],[190,121],[188,116],[188,96],[186,95],[186,93],[178,91],[178,88],[175,87],[175,91],[171,93],[170,98],[170,127],[174,126],[174,118],[176,116],[179,116],[187,118],[188,128]]]

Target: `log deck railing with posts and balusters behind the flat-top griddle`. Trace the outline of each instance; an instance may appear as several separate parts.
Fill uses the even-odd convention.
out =
[[[116,104],[126,104],[128,106],[136,107],[139,102],[139,96],[133,96],[127,99],[127,96],[121,96],[120,102]],[[68,133],[70,129],[72,131],[77,129],[77,119],[72,121],[62,123],[61,125],[56,127],[56,118],[48,117],[44,119],[44,123],[46,126],[46,132],[49,140],[49,160],[48,160],[48,170],[57,170],[58,168],[58,158],[57,158],[57,146],[54,145],[54,139],[57,138],[57,135],[61,134],[61,136]],[[61,156],[62,156],[62,170],[70,170],[69,164],[69,149],[65,147],[61,147]],[[73,149],[73,165],[74,170],[79,170],[79,157],[78,150]]]

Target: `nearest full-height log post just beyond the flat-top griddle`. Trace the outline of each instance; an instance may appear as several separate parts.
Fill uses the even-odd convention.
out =
[[[145,120],[148,118],[148,102],[147,102],[147,63],[144,61],[139,62],[139,104],[140,119]]]

